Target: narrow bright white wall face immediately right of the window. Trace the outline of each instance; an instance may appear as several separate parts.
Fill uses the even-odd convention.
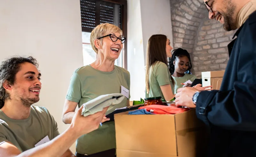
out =
[[[130,100],[140,100],[140,98],[145,97],[145,64],[140,0],[128,0],[127,5],[127,68],[131,75]]]

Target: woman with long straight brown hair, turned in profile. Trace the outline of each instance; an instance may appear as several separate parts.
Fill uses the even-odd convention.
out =
[[[167,57],[172,57],[172,46],[166,35],[152,35],[148,40],[146,65],[146,97],[175,97],[174,80],[169,72]]]

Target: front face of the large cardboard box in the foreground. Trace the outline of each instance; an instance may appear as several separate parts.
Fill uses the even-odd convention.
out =
[[[175,128],[171,127],[174,125],[174,115],[170,114],[128,115],[128,112],[115,114],[115,127],[118,130],[116,149],[119,152],[130,150],[177,156]]]

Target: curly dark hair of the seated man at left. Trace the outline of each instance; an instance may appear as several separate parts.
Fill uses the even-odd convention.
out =
[[[39,64],[36,59],[32,56],[29,57],[21,57],[21,56],[13,56],[11,58],[7,58],[0,64],[0,109],[4,106],[4,101],[10,99],[10,94],[7,93],[3,87],[3,83],[5,80],[8,81],[10,85],[13,85],[15,82],[15,76],[20,70],[20,65],[28,62],[35,65],[37,68]]]

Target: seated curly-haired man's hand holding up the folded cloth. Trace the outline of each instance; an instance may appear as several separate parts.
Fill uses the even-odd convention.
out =
[[[82,136],[93,130],[99,128],[100,122],[104,122],[103,117],[108,110],[108,107],[105,107],[103,111],[97,112],[95,114],[84,117],[82,114],[83,106],[75,113],[71,126],[77,135]]]

